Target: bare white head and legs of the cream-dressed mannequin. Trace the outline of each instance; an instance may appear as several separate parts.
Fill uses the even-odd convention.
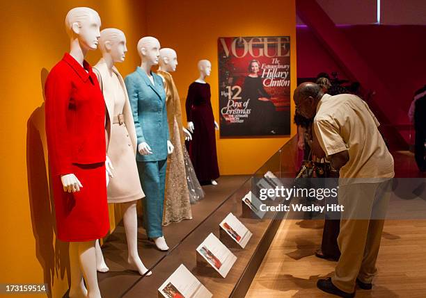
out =
[[[116,76],[113,72],[114,63],[121,63],[125,60],[127,53],[126,38],[123,31],[116,28],[107,28],[100,33],[100,50],[102,58],[107,63],[110,76]],[[128,258],[132,270],[138,271],[139,274],[145,274],[148,269],[143,265],[138,253],[138,220],[136,214],[136,202],[129,201],[122,203],[124,208],[123,223],[125,226],[125,233],[128,246]],[[99,241],[96,242],[96,263],[97,271],[108,272],[109,268],[105,264],[102,250],[100,249]],[[151,275],[152,272],[148,272]]]

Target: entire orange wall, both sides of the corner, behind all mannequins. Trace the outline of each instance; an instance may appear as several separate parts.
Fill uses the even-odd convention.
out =
[[[125,32],[129,52],[125,63],[118,65],[123,76],[139,65],[136,42],[141,36],[155,35],[164,47],[175,48],[180,65],[174,77],[182,101],[187,86],[198,76],[197,60],[209,58],[216,119],[219,36],[290,35],[292,90],[296,83],[294,1],[149,1],[146,7],[139,0],[2,3],[0,283],[50,283],[52,297],[62,297],[68,288],[68,245],[58,242],[52,229],[42,81],[69,50],[63,22],[68,10],[77,6],[97,10],[102,28]],[[99,51],[88,55],[92,65],[98,58]],[[253,172],[286,140],[218,140],[221,173]]]

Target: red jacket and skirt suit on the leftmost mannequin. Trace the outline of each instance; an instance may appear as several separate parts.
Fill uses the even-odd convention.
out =
[[[105,172],[105,104],[90,65],[65,53],[47,76],[46,135],[57,238],[88,241],[109,230]],[[61,175],[75,174],[79,192],[64,192]]]

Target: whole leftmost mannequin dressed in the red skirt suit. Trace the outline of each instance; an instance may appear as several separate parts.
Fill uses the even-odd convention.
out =
[[[65,27],[70,53],[52,68],[45,85],[57,238],[70,242],[71,298],[101,297],[95,240],[109,230],[105,173],[112,173],[105,149],[104,99],[84,60],[88,51],[97,48],[100,25],[99,15],[91,8],[68,12]]]

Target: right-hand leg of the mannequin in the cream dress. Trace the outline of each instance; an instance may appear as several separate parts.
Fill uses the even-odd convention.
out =
[[[138,253],[138,218],[136,213],[136,201],[123,203],[123,207],[125,208],[123,222],[126,232],[127,247],[129,250],[127,262],[132,270],[138,271],[139,274],[143,275],[148,271],[148,269],[145,265],[143,265]],[[149,276],[151,274],[152,272],[148,272],[146,275]]]

